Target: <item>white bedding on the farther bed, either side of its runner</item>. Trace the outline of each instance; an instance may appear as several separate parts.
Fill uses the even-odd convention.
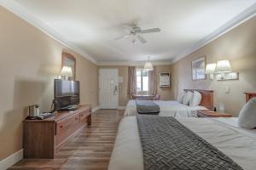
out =
[[[196,110],[207,109],[204,106],[198,105],[190,107],[189,105],[183,105],[174,100],[153,100],[156,105],[160,106],[160,116],[173,116],[173,117],[193,117],[193,112]],[[124,116],[136,116],[137,105],[136,100],[131,99],[126,105]]]

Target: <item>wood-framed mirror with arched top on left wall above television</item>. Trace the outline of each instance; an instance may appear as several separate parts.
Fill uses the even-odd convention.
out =
[[[61,68],[69,66],[72,69],[73,77],[68,77],[69,80],[75,80],[76,77],[76,58],[72,54],[62,53]]]

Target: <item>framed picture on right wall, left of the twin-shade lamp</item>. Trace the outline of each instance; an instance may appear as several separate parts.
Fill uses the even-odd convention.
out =
[[[207,79],[206,71],[206,56],[202,56],[198,59],[194,59],[191,62],[192,80],[205,80]]]

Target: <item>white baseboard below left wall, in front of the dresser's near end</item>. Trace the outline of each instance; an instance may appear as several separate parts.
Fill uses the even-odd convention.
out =
[[[7,158],[0,161],[0,169],[4,170],[9,167],[12,167],[13,165],[15,165],[15,163],[17,163],[21,159],[23,159],[23,149],[15,152],[13,155],[8,156]]]

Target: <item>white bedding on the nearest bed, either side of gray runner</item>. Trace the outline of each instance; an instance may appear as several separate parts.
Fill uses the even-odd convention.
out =
[[[201,138],[230,156],[245,170],[256,169],[256,129],[236,126],[236,118],[177,118]],[[143,150],[137,129],[137,117],[127,116],[119,132],[109,161],[109,170],[143,170]]]

